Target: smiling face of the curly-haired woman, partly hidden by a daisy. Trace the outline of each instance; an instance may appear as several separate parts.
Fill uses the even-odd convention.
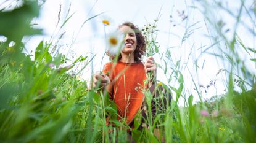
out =
[[[121,52],[124,54],[134,53],[137,47],[137,39],[136,39],[135,31],[126,25],[121,26],[119,31],[125,34],[125,39],[124,39],[125,47],[122,48]]]

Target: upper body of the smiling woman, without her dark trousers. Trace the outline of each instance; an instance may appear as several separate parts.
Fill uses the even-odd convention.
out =
[[[106,63],[102,74],[93,75],[93,87],[99,85],[108,91],[117,106],[118,120],[124,120],[129,125],[141,109],[144,99],[142,90],[154,88],[155,77],[149,82],[145,80],[149,71],[155,75],[157,66],[152,56],[142,63],[146,43],[137,26],[126,22],[119,26],[119,31],[125,34],[125,38],[118,61]],[[113,60],[114,56],[110,58]]]

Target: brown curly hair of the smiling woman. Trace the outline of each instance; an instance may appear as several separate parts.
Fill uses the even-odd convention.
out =
[[[135,26],[133,23],[131,22],[125,22],[122,25],[118,26],[118,28],[121,28],[122,26],[129,26],[131,29],[134,30],[135,35],[136,35],[136,39],[137,39],[137,47],[134,51],[134,60],[136,62],[140,62],[142,60],[142,56],[145,55],[146,53],[146,37],[144,37],[141,33],[141,31],[139,30],[138,26]],[[109,53],[107,53],[107,55],[109,55],[110,60],[114,60],[115,55],[110,55]],[[121,54],[118,57],[118,60],[120,60],[122,58]]]

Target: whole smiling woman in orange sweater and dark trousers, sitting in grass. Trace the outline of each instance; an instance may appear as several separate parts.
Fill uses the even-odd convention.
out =
[[[149,125],[149,118],[155,118],[157,112],[170,105],[171,95],[162,85],[155,84],[157,66],[154,58],[149,56],[142,63],[142,56],[146,52],[146,37],[142,36],[139,28],[126,22],[119,26],[119,32],[124,34],[120,45],[122,50],[110,56],[112,61],[105,64],[102,74],[93,75],[93,87],[108,93],[117,107],[117,115],[108,114],[107,125],[122,125],[120,128],[128,130],[139,125],[137,128],[142,131],[143,124]],[[150,72],[152,76],[149,76]],[[157,100],[160,98],[159,91],[163,95],[161,100]],[[142,115],[141,123],[135,121],[136,115]]]

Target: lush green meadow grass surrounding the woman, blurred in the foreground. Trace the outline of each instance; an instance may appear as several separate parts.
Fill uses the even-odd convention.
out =
[[[80,56],[70,66],[61,67],[66,60],[65,55],[52,56],[49,53],[51,43],[44,41],[36,48],[33,60],[23,53],[22,37],[41,31],[30,25],[31,19],[38,16],[39,8],[37,2],[24,1],[17,9],[0,12],[0,34],[6,37],[0,45],[0,142],[128,142],[127,130],[130,127],[125,123],[114,121],[115,127],[105,125],[105,116],[116,114],[109,98],[103,93],[88,90],[86,82],[89,81],[81,82],[68,74],[75,64],[86,60],[89,63],[87,57]],[[255,36],[254,29],[252,31]],[[225,95],[196,104],[192,104],[193,98],[200,94],[189,95],[185,106],[179,107],[178,100],[184,95],[184,80],[178,68],[173,68],[179,86],[166,85],[165,88],[171,88],[176,99],[166,110],[157,112],[154,120],[146,118],[147,128],[138,129],[142,118],[138,115],[134,120],[135,128],[130,132],[134,140],[256,141],[255,74],[240,66],[237,60],[239,56],[234,49],[244,45],[237,36],[225,43],[231,50],[225,53],[230,64],[241,67],[244,75],[250,73],[252,82],[249,90],[246,90],[246,83],[242,84],[247,79],[238,75],[241,91],[235,91],[237,81],[230,71]],[[244,48],[255,53],[253,47]],[[167,60],[171,60],[168,52]],[[152,96],[151,93],[146,94]],[[147,111],[150,115],[151,110]]]

